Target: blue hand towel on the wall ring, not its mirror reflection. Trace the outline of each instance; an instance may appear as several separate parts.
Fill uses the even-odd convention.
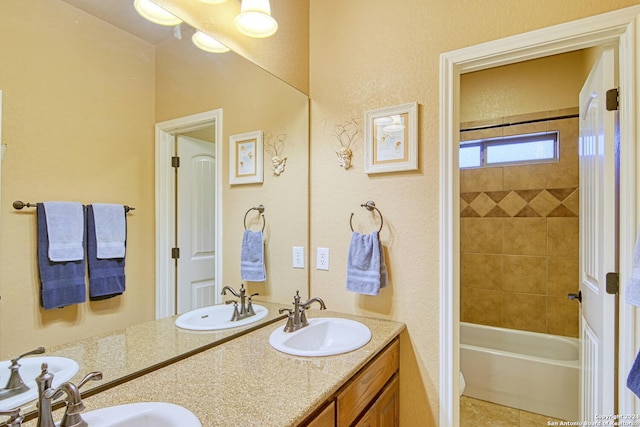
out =
[[[347,254],[347,290],[378,295],[386,286],[387,266],[378,232],[360,234],[354,231]]]

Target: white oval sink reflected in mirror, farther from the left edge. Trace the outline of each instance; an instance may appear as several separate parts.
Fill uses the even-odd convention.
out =
[[[176,326],[192,331],[213,331],[249,325],[264,319],[269,314],[266,307],[258,304],[253,304],[253,311],[256,312],[254,316],[232,322],[230,320],[233,315],[232,304],[212,305],[184,313],[176,319]]]

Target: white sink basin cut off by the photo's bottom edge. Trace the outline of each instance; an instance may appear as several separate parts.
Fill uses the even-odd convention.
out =
[[[163,402],[109,406],[82,414],[82,418],[91,427],[202,427],[188,409]]]

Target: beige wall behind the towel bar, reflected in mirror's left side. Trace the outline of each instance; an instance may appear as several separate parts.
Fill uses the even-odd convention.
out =
[[[154,318],[155,55],[148,43],[57,0],[6,0],[1,8],[4,360]],[[135,207],[126,298],[41,309],[35,209],[14,210],[14,200]]]

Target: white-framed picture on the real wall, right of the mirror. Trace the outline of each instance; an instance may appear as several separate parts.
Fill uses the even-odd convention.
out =
[[[418,169],[418,103],[364,113],[364,171]]]

